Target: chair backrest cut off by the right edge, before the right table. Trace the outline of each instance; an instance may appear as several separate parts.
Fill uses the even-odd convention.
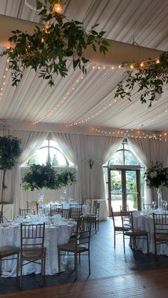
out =
[[[168,214],[153,213],[154,234],[168,234]]]

